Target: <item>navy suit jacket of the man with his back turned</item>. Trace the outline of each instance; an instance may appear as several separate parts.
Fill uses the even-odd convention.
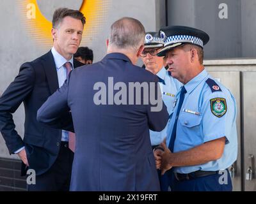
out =
[[[151,112],[151,104],[96,105],[94,97],[100,89],[95,83],[108,85],[109,77],[127,87],[129,82],[152,82],[157,88],[155,75],[132,65],[123,54],[108,54],[100,62],[71,71],[69,80],[38,110],[37,119],[61,128],[60,115],[71,109],[76,131],[71,191],[158,191],[149,128],[161,131],[166,126],[166,106]]]

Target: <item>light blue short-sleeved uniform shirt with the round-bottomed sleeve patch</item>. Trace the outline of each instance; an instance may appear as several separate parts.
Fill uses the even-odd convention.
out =
[[[214,80],[214,84],[217,86],[208,85],[208,78],[214,80],[204,69],[184,85],[187,93],[180,109],[173,152],[189,150],[202,143],[225,136],[223,155],[220,159],[205,164],[174,167],[174,172],[225,170],[237,159],[236,100],[220,82]],[[216,91],[218,89],[221,91]],[[179,104],[179,93],[180,91],[177,93],[176,104]],[[174,108],[173,115],[176,115],[176,112],[177,106]],[[170,143],[174,122],[174,117],[168,122],[167,147]]]

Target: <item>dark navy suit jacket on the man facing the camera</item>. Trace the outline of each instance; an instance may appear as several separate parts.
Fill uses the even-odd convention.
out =
[[[74,67],[82,66],[74,60]],[[58,89],[58,75],[51,51],[20,67],[19,75],[0,98],[0,130],[10,154],[25,146],[29,168],[40,175],[49,170],[60,150],[61,130],[45,127],[36,120],[36,112]],[[12,119],[20,103],[24,103],[24,139],[15,131]],[[67,121],[68,122],[68,121]],[[70,121],[69,121],[70,122]],[[26,170],[22,167],[22,175]]]

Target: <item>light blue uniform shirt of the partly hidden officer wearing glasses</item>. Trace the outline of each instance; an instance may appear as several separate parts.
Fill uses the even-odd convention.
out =
[[[176,93],[182,84],[175,78],[171,77],[164,67],[160,69],[156,75],[161,79],[159,80],[161,81],[159,82],[159,85],[162,92],[163,102],[166,105],[169,115],[171,115],[173,112],[173,101],[175,100]],[[150,130],[151,145],[159,145],[163,142],[166,137],[166,131],[167,126],[161,132]]]

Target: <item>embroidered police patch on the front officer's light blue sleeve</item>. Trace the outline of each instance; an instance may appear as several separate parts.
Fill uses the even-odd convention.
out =
[[[212,98],[211,112],[217,117],[222,117],[227,112],[227,103],[225,98]]]

